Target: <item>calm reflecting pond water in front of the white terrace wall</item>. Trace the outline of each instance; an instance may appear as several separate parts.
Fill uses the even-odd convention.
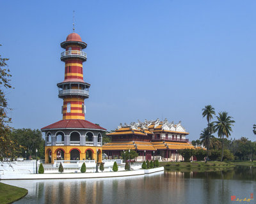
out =
[[[231,201],[256,196],[256,168],[223,171],[165,171],[148,176],[108,179],[6,180],[25,187],[15,203],[248,203]],[[251,200],[250,203],[256,203]]]

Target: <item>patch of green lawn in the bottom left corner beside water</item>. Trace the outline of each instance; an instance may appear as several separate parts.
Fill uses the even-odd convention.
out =
[[[28,190],[0,182],[0,203],[13,203],[28,194]]]

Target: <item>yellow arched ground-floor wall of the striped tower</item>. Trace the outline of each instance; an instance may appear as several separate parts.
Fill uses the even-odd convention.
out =
[[[102,147],[92,147],[92,146],[45,146],[45,163],[49,163],[49,150],[52,151],[52,163],[56,160],[56,153],[58,149],[62,149],[64,151],[64,160],[70,160],[70,150],[78,149],[80,150],[80,160],[85,160],[86,154],[85,151],[87,149],[93,150],[92,159],[96,160],[96,150],[99,150],[99,161],[102,162]]]

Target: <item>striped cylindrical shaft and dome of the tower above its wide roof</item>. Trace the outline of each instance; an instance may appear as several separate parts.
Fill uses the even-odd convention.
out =
[[[81,40],[77,33],[71,33],[66,41],[61,43],[65,52],[61,53],[61,61],[65,62],[65,80],[58,85],[59,98],[63,99],[62,114],[65,119],[84,120],[84,99],[89,97],[89,87],[83,80],[83,62],[86,53],[82,50],[87,44]]]

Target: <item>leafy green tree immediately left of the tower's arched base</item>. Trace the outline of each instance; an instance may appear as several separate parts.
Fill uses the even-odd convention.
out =
[[[11,138],[25,147],[27,155],[35,156],[36,149],[38,149],[38,157],[44,159],[45,140],[39,129],[14,129],[11,133]],[[25,157],[25,152],[22,152],[22,156]]]

